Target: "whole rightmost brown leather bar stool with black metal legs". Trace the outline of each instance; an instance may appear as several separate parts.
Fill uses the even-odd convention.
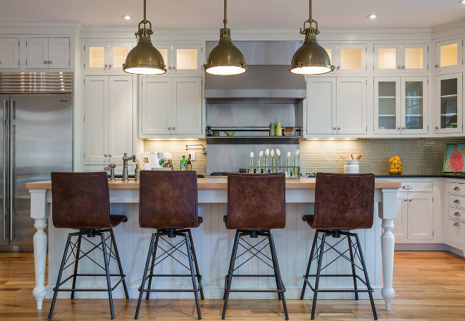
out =
[[[315,213],[314,215],[304,215],[302,218],[311,228],[316,229],[314,242],[311,246],[309,264],[306,267],[306,274],[304,275],[304,286],[302,287],[302,294],[300,296],[300,299],[303,300],[307,284],[314,291],[311,320],[315,319],[316,297],[319,292],[354,292],[356,300],[359,299],[359,292],[368,292],[374,319],[378,320],[373,301],[373,289],[368,279],[359,234],[350,232],[351,229],[370,229],[373,226],[374,194],[374,174],[316,173]],[[319,237],[320,234],[321,237]],[[340,239],[341,236],[344,236],[344,238]],[[337,241],[335,245],[330,245],[326,243],[327,237],[340,239],[340,241]],[[352,241],[351,237],[354,237],[355,240]],[[317,246],[318,239],[321,240],[319,246]],[[342,241],[345,239],[347,239],[347,250],[344,252],[337,250],[335,246],[342,244]],[[329,248],[325,250],[325,246],[329,246]],[[332,260],[324,267],[321,267],[323,254],[330,249],[333,249],[339,255],[335,260],[345,258],[345,260],[350,262],[352,265],[352,274],[321,274],[322,270],[335,262],[335,260]],[[349,252],[349,257],[346,254],[347,252]],[[356,262],[356,257],[359,259],[361,267]],[[316,275],[311,275],[310,268],[314,260],[317,260]],[[364,272],[365,280],[356,275],[356,268]],[[316,277],[314,286],[309,282],[309,277]],[[352,277],[354,289],[319,289],[320,277]],[[366,290],[357,288],[357,279],[366,285]]]

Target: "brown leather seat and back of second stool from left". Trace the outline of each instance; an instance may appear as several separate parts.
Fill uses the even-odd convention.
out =
[[[140,227],[198,227],[197,172],[141,170]]]

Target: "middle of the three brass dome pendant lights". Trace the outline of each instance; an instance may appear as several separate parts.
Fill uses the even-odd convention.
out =
[[[220,29],[220,42],[210,52],[204,64],[206,73],[211,75],[239,75],[247,71],[244,56],[231,41],[231,30],[226,27],[228,23],[226,8],[227,0],[224,4],[225,18],[223,19],[224,27]]]

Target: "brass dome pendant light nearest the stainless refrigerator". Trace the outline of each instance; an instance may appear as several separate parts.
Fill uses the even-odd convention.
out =
[[[139,36],[137,45],[129,51],[126,57],[126,63],[123,63],[123,70],[126,73],[136,75],[161,75],[166,73],[166,65],[161,53],[151,44],[150,34],[151,22],[145,18],[145,1],[144,0],[144,20],[139,23],[136,38]],[[141,28],[142,23],[144,27]],[[146,25],[149,24],[147,29]]]

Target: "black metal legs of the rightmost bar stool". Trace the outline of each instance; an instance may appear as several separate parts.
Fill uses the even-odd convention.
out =
[[[321,234],[321,244],[318,247],[317,242],[320,237],[319,234]],[[326,243],[326,238],[328,236],[333,236],[335,239],[340,239],[337,241],[334,245],[330,245]],[[341,238],[342,237],[342,238]],[[352,242],[350,239],[351,237],[355,237],[356,242]],[[347,238],[347,244],[348,248],[345,251],[339,251],[336,246],[337,244],[342,244],[342,241]],[[328,246],[328,249],[325,250],[325,245]],[[316,249],[315,249],[316,248]],[[333,251],[337,252],[339,256],[335,258],[334,260],[330,261],[330,263],[327,263],[324,267],[321,267],[321,263],[323,261],[323,253],[326,251],[329,251],[330,249],[333,249]],[[318,253],[319,252],[319,253]],[[346,253],[349,252],[349,257],[347,257]],[[355,258],[358,257],[359,261],[361,263],[361,267],[358,265],[358,263],[355,262]],[[321,274],[321,271],[324,270],[328,265],[331,263],[335,262],[338,258],[345,258],[345,260],[348,260],[351,263],[352,266],[352,274],[345,274],[345,275],[334,275],[334,274]],[[316,275],[311,275],[310,274],[310,267],[311,267],[311,262],[313,260],[317,259],[318,260],[318,266],[316,268]],[[364,272],[364,279],[361,279],[358,275],[356,275],[356,267],[359,268],[359,270],[362,270]],[[315,285],[314,287],[312,284],[309,282],[309,277],[315,277]],[[320,277],[352,277],[354,281],[354,289],[353,290],[348,290],[348,289],[319,289],[319,282],[320,282]],[[358,289],[357,287],[357,279],[360,280],[363,284],[366,285],[366,290],[365,289]],[[312,291],[314,291],[314,300],[312,302],[312,307],[311,307],[311,320],[315,319],[315,313],[316,313],[316,299],[318,296],[318,292],[354,292],[356,300],[359,299],[359,292],[366,292],[368,293],[368,296],[370,298],[370,303],[371,303],[371,309],[373,310],[373,317],[375,320],[378,320],[378,316],[376,315],[376,307],[375,307],[375,302],[373,301],[373,289],[371,288],[370,281],[368,279],[368,271],[366,270],[366,264],[365,264],[365,258],[364,258],[364,253],[361,251],[361,245],[360,245],[360,240],[359,240],[359,235],[356,233],[351,233],[347,230],[330,230],[330,229],[317,229],[315,233],[315,238],[314,238],[314,244],[311,246],[311,254],[309,258],[309,265],[307,266],[306,269],[306,274],[304,275],[304,286],[302,287],[302,295],[301,295],[301,300],[304,298],[304,293],[305,293],[305,287],[308,285]]]

